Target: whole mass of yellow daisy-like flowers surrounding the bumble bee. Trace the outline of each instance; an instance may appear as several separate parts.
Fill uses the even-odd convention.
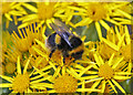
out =
[[[11,93],[127,93],[121,82],[133,76],[131,2],[2,2],[1,13],[7,31],[0,77],[7,83],[0,87]],[[50,57],[45,40],[55,32],[54,19],[82,40],[81,59],[63,57],[59,50]],[[9,33],[12,21],[17,31]]]

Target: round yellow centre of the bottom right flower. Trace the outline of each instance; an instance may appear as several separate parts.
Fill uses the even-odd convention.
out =
[[[114,75],[114,71],[108,63],[103,64],[99,68],[99,76],[104,77],[105,80],[112,78]]]

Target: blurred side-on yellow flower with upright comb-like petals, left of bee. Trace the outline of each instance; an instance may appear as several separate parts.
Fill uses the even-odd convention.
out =
[[[30,54],[35,54],[32,50],[32,45],[35,45],[35,39],[40,40],[43,42],[43,32],[42,30],[35,30],[35,23],[33,25],[29,25],[28,28],[25,28],[25,31],[22,30],[18,30],[19,31],[19,35],[13,31],[12,33],[12,43],[13,43],[13,48],[12,51],[9,51],[7,57],[8,59],[12,59],[16,56],[16,54],[20,54],[20,59],[21,61],[27,61],[27,57]],[[14,55],[14,56],[11,56]],[[17,57],[14,57],[14,62],[16,62]],[[24,64],[22,63],[22,65],[24,66]],[[31,65],[31,64],[30,64]],[[31,68],[31,66],[29,65],[28,68]]]

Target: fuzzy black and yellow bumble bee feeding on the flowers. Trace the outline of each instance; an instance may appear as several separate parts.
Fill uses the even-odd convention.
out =
[[[45,45],[50,49],[50,57],[55,50],[61,51],[63,57],[72,56],[75,60],[81,59],[84,52],[84,44],[81,39],[74,35],[64,23],[54,20],[50,23],[51,28],[55,31],[45,40]]]

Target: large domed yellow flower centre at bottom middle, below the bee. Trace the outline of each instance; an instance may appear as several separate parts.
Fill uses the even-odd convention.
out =
[[[57,93],[74,93],[78,88],[78,80],[65,74],[55,78],[53,87]]]

